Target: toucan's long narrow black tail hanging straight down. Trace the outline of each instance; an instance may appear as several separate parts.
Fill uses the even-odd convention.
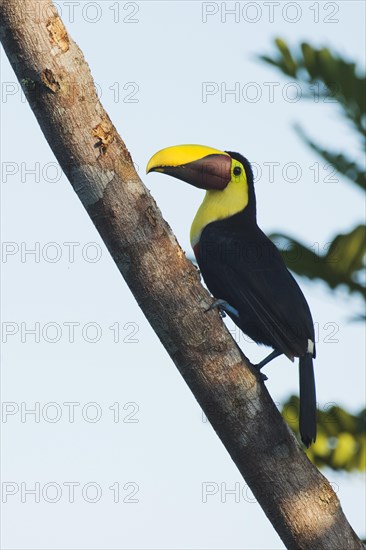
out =
[[[306,353],[300,357],[300,435],[309,447],[316,438],[316,394],[313,357]]]

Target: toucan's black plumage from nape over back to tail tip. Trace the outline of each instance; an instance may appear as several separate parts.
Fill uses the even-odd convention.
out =
[[[257,225],[249,162],[238,153],[229,154],[245,169],[248,205],[238,214],[203,229],[195,247],[197,262],[213,296],[239,312],[239,317],[228,314],[245,334],[290,359],[300,357],[300,433],[309,446],[316,437],[315,345],[309,352],[314,343],[310,309],[276,246]]]

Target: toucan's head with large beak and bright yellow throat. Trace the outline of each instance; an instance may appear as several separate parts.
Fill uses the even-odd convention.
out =
[[[191,242],[213,221],[230,218],[245,210],[255,219],[253,173],[246,158],[204,145],[175,145],[155,153],[146,173],[161,172],[194,187],[206,189],[206,197],[191,229]]]

